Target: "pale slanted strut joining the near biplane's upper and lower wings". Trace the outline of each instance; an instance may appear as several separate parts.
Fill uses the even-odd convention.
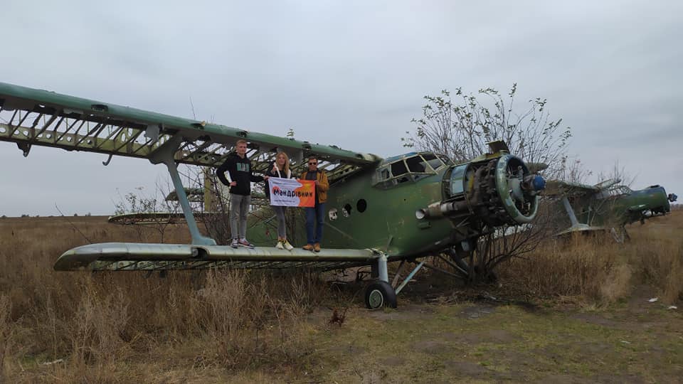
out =
[[[187,200],[185,187],[180,180],[178,166],[176,165],[176,161],[174,161],[173,156],[178,150],[181,142],[183,142],[183,137],[181,134],[175,134],[173,137],[171,137],[171,139],[169,139],[168,142],[165,142],[159,146],[159,148],[157,148],[154,153],[149,156],[149,161],[152,162],[152,164],[164,163],[166,164],[166,168],[169,169],[173,186],[176,188],[178,201],[180,202],[181,208],[183,208],[185,220],[187,221],[187,227],[189,228],[190,235],[192,236],[192,245],[216,245],[216,240],[207,238],[199,233],[197,222],[194,220],[194,213],[192,213],[190,202]]]

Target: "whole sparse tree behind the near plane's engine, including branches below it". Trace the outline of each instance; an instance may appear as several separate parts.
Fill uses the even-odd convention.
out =
[[[465,162],[484,154],[487,142],[502,140],[512,154],[527,164],[546,164],[546,178],[571,176],[578,181],[586,176],[581,162],[566,154],[571,128],[562,126],[562,119],[551,119],[546,99],[529,100],[516,112],[517,84],[512,85],[507,97],[493,88],[484,88],[477,95],[455,91],[455,99],[448,90],[438,96],[425,96],[423,115],[412,119],[415,132],[406,132],[403,145],[418,150],[435,151]],[[483,99],[480,100],[478,97]],[[449,250],[447,255],[457,265],[455,270],[468,282],[488,281],[494,270],[505,260],[524,257],[541,240],[548,238],[554,228],[550,204],[541,203],[536,221],[521,227],[504,226],[483,235],[472,251]]]

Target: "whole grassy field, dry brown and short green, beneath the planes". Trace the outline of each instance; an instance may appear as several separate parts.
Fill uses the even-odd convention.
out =
[[[482,287],[419,272],[368,311],[362,284],[305,271],[53,272],[70,247],[160,233],[2,218],[0,383],[677,383],[683,210],[628,229],[549,241]]]

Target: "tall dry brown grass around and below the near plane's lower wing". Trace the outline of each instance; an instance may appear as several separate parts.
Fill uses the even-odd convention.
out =
[[[153,230],[70,219],[83,235],[58,218],[38,227],[36,219],[0,222],[0,382],[127,381],[125,367],[149,353],[171,365],[189,358],[191,366],[227,371],[306,363],[310,347],[297,324],[319,304],[323,286],[314,277],[54,272],[60,252],[85,238],[154,241]],[[185,231],[166,238],[186,242]]]

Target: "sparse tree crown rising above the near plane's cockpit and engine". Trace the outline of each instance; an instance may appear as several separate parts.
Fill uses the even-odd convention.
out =
[[[427,95],[422,117],[411,120],[415,132],[406,132],[403,145],[446,154],[460,162],[485,153],[487,142],[503,140],[512,154],[529,163],[547,164],[545,174],[554,177],[567,157],[571,128],[562,127],[562,119],[551,119],[547,100],[540,97],[529,100],[521,113],[514,112],[516,94],[517,84],[507,97],[493,88],[481,89],[477,95],[457,88],[455,101],[448,90],[438,96]]]

